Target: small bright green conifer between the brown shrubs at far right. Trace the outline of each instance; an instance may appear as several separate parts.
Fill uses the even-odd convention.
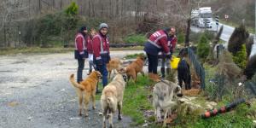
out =
[[[247,51],[245,44],[241,45],[241,50],[233,54],[233,61],[238,67],[240,67],[241,69],[245,69],[247,65]]]

